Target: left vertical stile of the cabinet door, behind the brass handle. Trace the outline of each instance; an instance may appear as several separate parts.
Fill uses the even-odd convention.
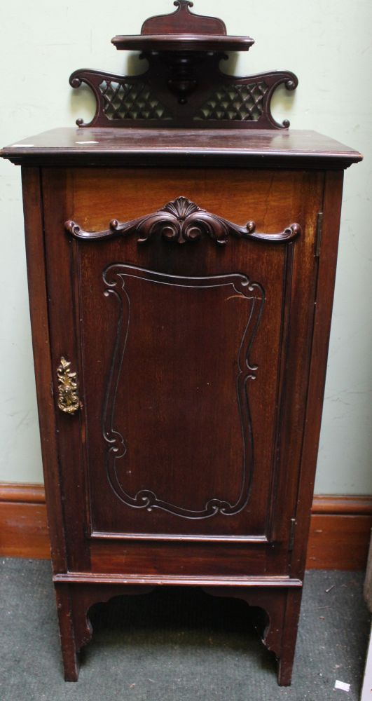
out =
[[[78,323],[77,276],[74,272],[74,242],[64,232],[67,212],[71,211],[74,192],[69,171],[43,169],[43,207],[45,225],[46,280],[50,315],[50,355],[54,386],[55,424],[60,465],[62,513],[67,536],[69,569],[88,569],[89,549],[85,540],[85,436],[82,411],[76,416],[60,410],[57,377],[62,358],[71,362],[68,372],[76,372],[80,393],[80,325]]]

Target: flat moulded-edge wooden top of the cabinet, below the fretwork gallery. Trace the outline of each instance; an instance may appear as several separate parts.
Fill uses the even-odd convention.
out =
[[[347,168],[361,154],[314,131],[59,128],[15,142],[2,158],[25,165],[230,165]]]

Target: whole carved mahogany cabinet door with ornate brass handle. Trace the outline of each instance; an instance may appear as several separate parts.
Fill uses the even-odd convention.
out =
[[[43,189],[56,406],[77,373],[57,409],[71,567],[182,541],[186,570],[215,546],[287,573],[322,174],[48,170]]]

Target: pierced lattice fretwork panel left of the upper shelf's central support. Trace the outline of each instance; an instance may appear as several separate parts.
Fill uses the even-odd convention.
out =
[[[159,102],[148,83],[102,81],[99,91],[108,119],[171,119],[172,115]]]

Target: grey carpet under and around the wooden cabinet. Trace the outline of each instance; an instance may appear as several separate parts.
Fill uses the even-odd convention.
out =
[[[2,559],[0,701],[357,701],[362,585],[362,573],[307,573],[290,688],[277,686],[244,602],[177,589],[95,607],[79,681],[65,683],[50,563]],[[334,690],[336,679],[350,693]]]

